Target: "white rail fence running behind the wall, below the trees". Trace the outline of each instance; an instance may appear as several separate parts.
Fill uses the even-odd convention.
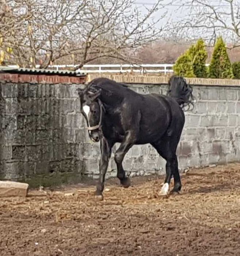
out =
[[[172,67],[174,64],[87,64],[84,65],[82,68],[77,69],[77,72],[84,72],[84,73],[172,73]],[[209,64],[206,64],[209,66]],[[17,66],[11,65],[9,67],[16,68]],[[36,66],[38,68],[39,65]],[[77,65],[51,65],[49,68],[56,68],[59,69],[66,69],[66,68],[73,68],[77,67]]]

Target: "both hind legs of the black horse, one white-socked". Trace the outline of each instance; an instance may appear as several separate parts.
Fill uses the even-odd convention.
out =
[[[167,137],[161,140],[157,144],[153,144],[160,156],[166,161],[166,177],[164,185],[161,188],[160,194],[167,195],[169,190],[169,183],[172,175],[174,176],[174,188],[171,192],[179,192],[182,188],[181,179],[178,171],[178,159],[176,156],[176,147],[178,145],[178,139]]]

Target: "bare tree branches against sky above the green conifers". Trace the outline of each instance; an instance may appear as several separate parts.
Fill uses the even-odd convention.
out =
[[[240,46],[240,3],[238,0],[192,0],[182,5],[186,13],[174,27],[174,33],[185,38],[202,37],[215,42],[224,36],[231,48]],[[188,8],[187,8],[188,7]]]

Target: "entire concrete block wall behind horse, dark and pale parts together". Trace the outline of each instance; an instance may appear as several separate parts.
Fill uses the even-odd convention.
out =
[[[99,143],[90,142],[79,109],[76,84],[0,83],[0,179],[31,186],[98,177]],[[139,93],[164,93],[166,85],[129,84]],[[186,112],[178,147],[179,168],[240,160],[239,86],[202,86]],[[118,145],[114,146],[114,151]],[[165,171],[150,145],[133,146],[123,166],[129,175]],[[111,157],[107,177],[116,176]]]

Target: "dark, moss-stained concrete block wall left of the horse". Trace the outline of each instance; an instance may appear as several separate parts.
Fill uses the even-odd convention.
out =
[[[82,85],[0,83],[0,179],[31,186],[80,181]]]

